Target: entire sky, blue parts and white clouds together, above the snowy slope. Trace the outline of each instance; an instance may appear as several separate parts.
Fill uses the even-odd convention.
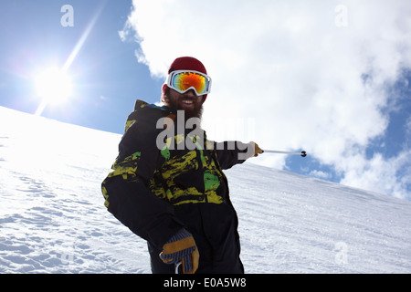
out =
[[[134,100],[158,102],[169,64],[194,56],[213,78],[208,137],[305,150],[254,162],[410,199],[411,4],[252,3],[2,1],[0,106],[35,113],[37,77],[66,65],[71,93],[41,115],[121,133]]]

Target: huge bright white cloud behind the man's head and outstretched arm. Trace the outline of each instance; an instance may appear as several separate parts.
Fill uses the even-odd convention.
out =
[[[357,185],[352,172],[367,165],[399,167],[362,153],[385,133],[385,87],[411,67],[410,12],[407,0],[134,0],[121,37],[136,37],[138,61],[153,76],[164,77],[175,57],[203,61],[213,78],[204,114],[209,137],[304,149]],[[218,133],[238,120],[254,126]],[[283,167],[284,159],[260,160]]]

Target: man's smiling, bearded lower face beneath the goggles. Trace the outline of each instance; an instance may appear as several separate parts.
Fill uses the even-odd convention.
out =
[[[178,93],[168,89],[164,95],[164,104],[172,110],[184,110],[185,120],[200,118],[203,113],[203,96],[197,97],[194,90]]]

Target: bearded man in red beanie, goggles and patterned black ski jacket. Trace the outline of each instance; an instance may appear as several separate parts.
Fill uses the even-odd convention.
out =
[[[262,151],[254,142],[207,141],[199,119],[211,78],[176,58],[164,106],[137,100],[112,172],[101,185],[109,212],[148,243],[153,273],[244,273],[237,214],[222,171]],[[174,264],[174,265],[173,265]]]

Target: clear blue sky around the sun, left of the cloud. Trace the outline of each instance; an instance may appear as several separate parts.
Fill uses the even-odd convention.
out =
[[[60,10],[66,4],[73,7],[74,26],[61,26],[65,13]],[[121,42],[118,32],[131,5],[131,1],[100,0],[3,1],[0,105],[35,113],[40,97],[33,75],[41,68],[62,67],[97,16],[68,68],[74,83],[72,97],[66,103],[49,105],[42,116],[121,133],[136,97],[157,101],[163,83],[137,63],[134,50],[138,44]]]

